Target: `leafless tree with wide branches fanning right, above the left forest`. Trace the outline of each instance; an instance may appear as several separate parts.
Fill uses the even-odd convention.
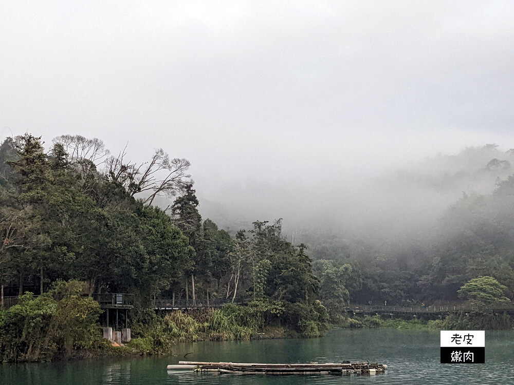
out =
[[[112,181],[120,183],[131,196],[146,193],[143,199],[146,204],[152,204],[155,197],[164,195],[174,197],[192,183],[188,169],[191,163],[187,159],[173,158],[162,148],[156,149],[150,162],[140,165],[125,162],[125,149],[117,158],[107,160],[107,175]]]

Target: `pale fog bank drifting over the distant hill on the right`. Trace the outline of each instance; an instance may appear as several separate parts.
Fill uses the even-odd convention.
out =
[[[513,164],[512,151],[488,144],[456,155],[439,153],[371,177],[335,174],[314,186],[248,179],[225,185],[225,196],[217,201],[197,192],[200,213],[222,228],[283,218],[286,234],[315,227],[348,236],[404,237],[426,232],[464,194],[493,191],[514,174]]]

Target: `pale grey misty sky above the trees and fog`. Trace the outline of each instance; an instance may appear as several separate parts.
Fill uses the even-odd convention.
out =
[[[0,130],[162,147],[210,201],[344,215],[363,177],[514,147],[513,20],[511,1],[4,0]]]

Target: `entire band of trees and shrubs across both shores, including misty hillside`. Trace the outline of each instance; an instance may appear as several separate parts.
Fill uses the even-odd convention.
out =
[[[490,145],[463,152],[491,155],[503,156]],[[169,354],[182,341],[319,337],[330,324],[512,329],[511,316],[492,310],[514,298],[513,176],[492,194],[464,194],[421,239],[350,239],[312,224],[289,242],[282,219],[227,230],[204,220],[188,160],[162,149],[148,162],[127,158],[79,135],[54,138],[47,152],[29,133],[0,144],[0,298],[20,298],[0,311],[0,361]],[[494,160],[482,171],[504,164]],[[134,298],[124,346],[102,337],[91,296],[105,293]],[[161,316],[152,298],[245,305]],[[343,317],[351,301],[465,301],[471,311],[444,321]]]

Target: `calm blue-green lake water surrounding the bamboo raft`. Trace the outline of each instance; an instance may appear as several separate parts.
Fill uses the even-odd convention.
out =
[[[175,356],[0,364],[0,384],[514,384],[514,332],[486,332],[485,364],[441,364],[439,332],[333,329],[326,337],[176,345]],[[187,358],[186,353],[192,352]],[[180,360],[386,363],[387,374],[234,375],[168,372]]]

